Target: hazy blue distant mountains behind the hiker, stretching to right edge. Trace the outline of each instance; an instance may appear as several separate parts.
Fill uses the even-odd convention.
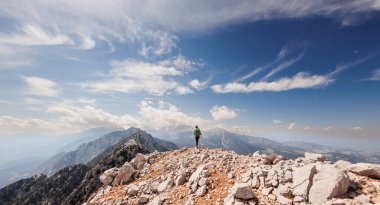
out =
[[[193,133],[180,132],[162,139],[174,142],[178,147],[193,147]],[[346,160],[350,162],[380,163],[380,152],[366,152],[353,149],[342,149],[307,142],[277,142],[262,137],[247,136],[215,128],[202,132],[200,145],[208,148],[233,150],[239,154],[260,151],[265,154],[278,153],[289,159],[303,156],[305,152],[325,154],[330,160]]]

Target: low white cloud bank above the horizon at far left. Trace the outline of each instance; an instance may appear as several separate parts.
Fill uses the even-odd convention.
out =
[[[139,126],[138,121],[130,115],[112,115],[97,108],[93,101],[86,99],[64,100],[61,103],[49,105],[47,112],[54,113],[58,117],[46,120],[2,115],[0,116],[0,135],[23,133],[53,135],[77,133],[104,126],[125,128]]]

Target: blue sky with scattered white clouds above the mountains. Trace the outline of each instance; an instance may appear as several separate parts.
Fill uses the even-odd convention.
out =
[[[380,145],[380,1],[0,1],[0,136]]]

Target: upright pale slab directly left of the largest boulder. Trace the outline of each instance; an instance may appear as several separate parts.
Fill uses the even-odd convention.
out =
[[[315,164],[305,165],[300,168],[296,168],[293,175],[293,195],[301,196],[307,199],[307,194],[312,185],[314,174],[317,172]]]

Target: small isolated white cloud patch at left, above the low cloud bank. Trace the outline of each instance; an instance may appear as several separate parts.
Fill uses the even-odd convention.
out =
[[[30,95],[54,97],[59,94],[57,84],[49,79],[32,76],[24,76],[23,79]]]

